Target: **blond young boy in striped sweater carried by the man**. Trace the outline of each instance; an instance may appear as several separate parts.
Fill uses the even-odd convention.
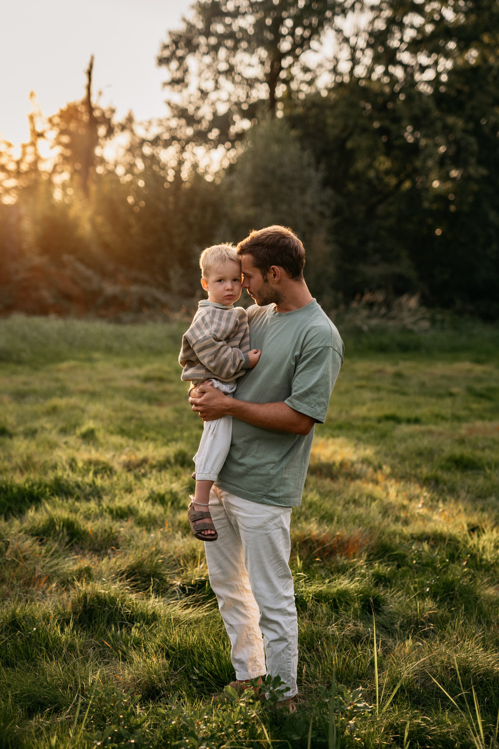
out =
[[[208,299],[200,301],[182,339],[182,379],[191,381],[191,389],[211,380],[221,392],[232,395],[237,378],[253,369],[261,354],[259,349],[249,350],[248,316],[242,307],[233,306],[242,291],[241,261],[233,247],[217,244],[201,252],[199,264],[201,286],[208,292]],[[187,511],[192,533],[201,541],[218,539],[211,515],[204,508],[227,458],[231,436],[232,416],[204,422],[194,456],[196,490]]]

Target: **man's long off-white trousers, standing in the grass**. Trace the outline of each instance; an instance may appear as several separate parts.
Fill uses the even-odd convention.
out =
[[[236,679],[281,676],[294,697],[298,622],[290,566],[291,507],[261,505],[214,486],[218,541],[205,543],[209,583],[230,638]]]

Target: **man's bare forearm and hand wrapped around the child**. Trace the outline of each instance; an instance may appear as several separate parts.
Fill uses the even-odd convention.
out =
[[[189,398],[192,410],[204,421],[233,416],[235,419],[271,431],[286,431],[288,434],[306,435],[312,430],[315,420],[300,413],[284,401],[277,403],[248,403],[224,395],[211,383],[198,386],[200,398]]]

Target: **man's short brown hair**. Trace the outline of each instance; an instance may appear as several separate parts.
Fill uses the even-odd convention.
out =
[[[274,224],[264,229],[254,229],[248,237],[239,242],[238,255],[251,255],[254,266],[260,270],[263,278],[272,265],[279,265],[290,278],[303,276],[305,250],[294,231],[286,226]]]

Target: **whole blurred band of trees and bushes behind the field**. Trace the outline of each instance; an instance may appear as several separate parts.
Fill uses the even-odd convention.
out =
[[[0,311],[176,312],[204,246],[276,222],[327,310],[497,319],[498,49],[498,0],[199,0],[159,50],[164,119],[117,121],[91,59],[0,142]]]

